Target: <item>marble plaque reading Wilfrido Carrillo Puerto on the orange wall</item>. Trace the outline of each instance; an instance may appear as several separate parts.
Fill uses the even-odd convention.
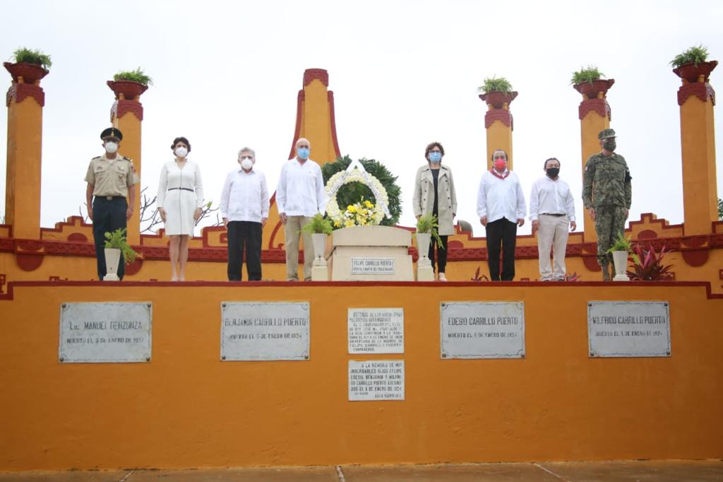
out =
[[[589,302],[590,356],[670,356],[668,308],[667,301]]]

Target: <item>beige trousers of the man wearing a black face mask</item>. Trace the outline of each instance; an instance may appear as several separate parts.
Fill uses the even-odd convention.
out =
[[[537,251],[540,262],[540,281],[565,281],[565,250],[568,248],[570,220],[568,216],[540,214],[537,232]],[[549,251],[555,269],[549,263]]]

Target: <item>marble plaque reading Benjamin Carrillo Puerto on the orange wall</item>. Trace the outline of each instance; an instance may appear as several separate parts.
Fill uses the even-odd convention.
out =
[[[308,360],[309,303],[221,303],[221,360]]]

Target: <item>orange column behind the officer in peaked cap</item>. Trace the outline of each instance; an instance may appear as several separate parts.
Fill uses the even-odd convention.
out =
[[[145,92],[147,86],[134,82],[108,80],[108,87],[116,94],[116,101],[111,107],[111,124],[123,132],[119,153],[121,156],[133,159],[133,166],[140,179],[141,123],[143,121],[140,95]],[[133,216],[128,220],[127,234],[129,244],[140,245],[140,182],[136,185]]]

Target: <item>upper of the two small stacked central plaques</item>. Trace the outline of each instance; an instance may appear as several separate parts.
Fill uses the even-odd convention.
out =
[[[349,308],[349,353],[403,353],[403,308]]]

